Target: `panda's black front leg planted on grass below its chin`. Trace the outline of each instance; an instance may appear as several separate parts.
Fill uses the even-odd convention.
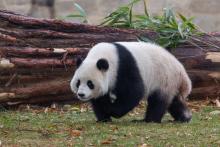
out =
[[[93,100],[92,102],[92,108],[95,113],[95,116],[97,118],[97,122],[111,122],[111,116],[110,114],[104,109],[103,104],[100,101]]]

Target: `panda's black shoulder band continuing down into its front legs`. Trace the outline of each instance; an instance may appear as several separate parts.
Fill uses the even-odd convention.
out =
[[[98,121],[120,118],[139,104],[144,96],[144,84],[136,61],[122,45],[114,43],[118,53],[118,71],[115,89],[117,99],[112,103],[109,94],[92,100]],[[102,99],[102,100],[101,100]]]

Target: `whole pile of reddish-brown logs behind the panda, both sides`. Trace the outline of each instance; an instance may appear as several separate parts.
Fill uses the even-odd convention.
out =
[[[72,101],[69,82],[76,58],[84,58],[98,42],[136,41],[149,30],[116,29],[61,20],[36,19],[0,10],[0,104]],[[185,65],[193,81],[190,98],[220,95],[220,43],[182,44],[171,52]]]

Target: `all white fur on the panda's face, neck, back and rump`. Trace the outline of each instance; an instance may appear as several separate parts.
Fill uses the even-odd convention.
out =
[[[152,91],[160,89],[167,94],[168,102],[175,95],[186,98],[191,91],[191,81],[182,64],[162,47],[144,42],[118,42],[128,49],[137,62],[143,83],[145,97]],[[107,72],[100,72],[96,68],[96,62],[105,58],[109,62]],[[86,97],[101,96],[111,91],[116,83],[118,69],[118,55],[116,48],[111,43],[99,43],[88,53],[71,81],[71,89],[77,93],[83,91]],[[79,89],[76,88],[77,79],[82,80]],[[95,81],[97,89],[91,91],[86,87],[86,80]],[[83,84],[84,83],[84,84]]]

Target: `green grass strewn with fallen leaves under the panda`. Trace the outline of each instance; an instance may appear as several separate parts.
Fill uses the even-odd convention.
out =
[[[75,108],[75,107],[74,107]],[[133,112],[111,123],[96,123],[89,110],[66,112],[26,110],[0,112],[3,146],[220,146],[220,117],[206,106],[193,113],[190,123],[174,123],[169,115],[161,124],[133,123]],[[143,112],[143,110],[141,110]]]

